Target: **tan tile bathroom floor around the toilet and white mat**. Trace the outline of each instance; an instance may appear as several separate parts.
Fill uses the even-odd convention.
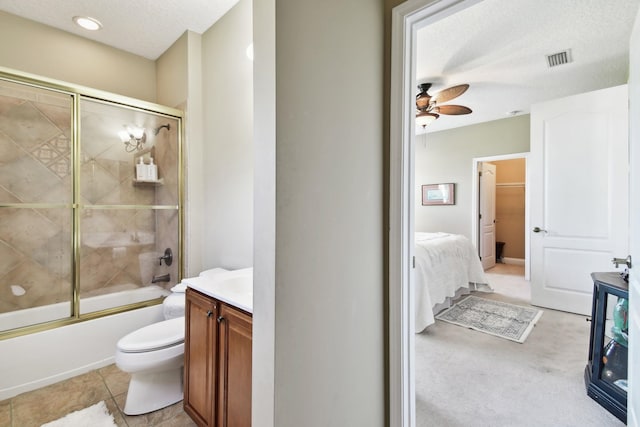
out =
[[[129,374],[115,365],[0,401],[0,427],[40,427],[104,400],[118,427],[195,427],[182,402],[149,414],[122,413]]]

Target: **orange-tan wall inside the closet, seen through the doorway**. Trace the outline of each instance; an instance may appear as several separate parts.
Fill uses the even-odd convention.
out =
[[[524,259],[525,159],[491,163],[496,165],[496,241],[505,242],[503,257]]]

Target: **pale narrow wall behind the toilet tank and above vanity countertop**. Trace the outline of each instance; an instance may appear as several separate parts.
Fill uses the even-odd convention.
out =
[[[203,268],[253,265],[251,8],[241,0],[202,36]]]

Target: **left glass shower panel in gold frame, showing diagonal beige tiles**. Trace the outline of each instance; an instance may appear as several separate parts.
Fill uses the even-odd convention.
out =
[[[0,79],[0,332],[72,316],[73,102]]]

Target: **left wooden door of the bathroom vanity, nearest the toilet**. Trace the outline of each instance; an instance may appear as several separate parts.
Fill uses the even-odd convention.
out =
[[[218,303],[187,289],[184,410],[199,426],[213,426]]]

